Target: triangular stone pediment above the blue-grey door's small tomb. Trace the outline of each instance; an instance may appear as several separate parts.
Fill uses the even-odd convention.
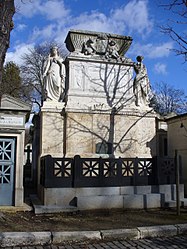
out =
[[[25,103],[24,101],[20,99],[14,98],[10,95],[3,94],[0,99],[0,109],[30,112],[31,105],[28,103]]]

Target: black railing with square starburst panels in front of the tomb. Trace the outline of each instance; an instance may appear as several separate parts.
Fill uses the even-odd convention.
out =
[[[172,158],[41,158],[46,188],[139,186],[175,183]]]

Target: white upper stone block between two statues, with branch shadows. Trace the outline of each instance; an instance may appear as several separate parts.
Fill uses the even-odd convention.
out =
[[[83,56],[66,58],[68,101],[71,110],[109,109],[134,102],[133,64]]]

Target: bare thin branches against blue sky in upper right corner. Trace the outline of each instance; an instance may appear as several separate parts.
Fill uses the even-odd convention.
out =
[[[166,10],[171,11],[174,17],[168,20],[166,25],[161,26],[161,32],[167,34],[171,37],[173,41],[176,42],[176,48],[173,51],[176,55],[181,55],[184,57],[184,61],[187,61],[187,34],[186,34],[186,24],[187,24],[187,1],[186,0],[170,0],[168,3],[163,1],[160,6],[164,7]],[[180,31],[178,25],[182,28]]]

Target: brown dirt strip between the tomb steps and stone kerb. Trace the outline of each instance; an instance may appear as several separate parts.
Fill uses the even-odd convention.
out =
[[[32,211],[0,210],[0,232],[10,231],[79,231],[134,228],[187,223],[187,209],[181,210],[98,210],[92,212],[35,215]]]

